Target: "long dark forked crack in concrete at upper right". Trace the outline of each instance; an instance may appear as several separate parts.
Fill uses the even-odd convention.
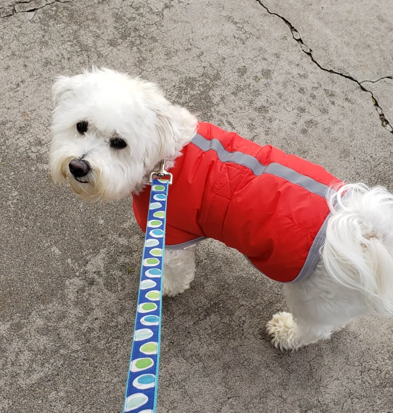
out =
[[[364,82],[377,83],[377,82],[379,82],[379,81],[382,80],[382,79],[393,79],[393,76],[385,76],[385,77],[382,77],[382,78],[380,78],[380,79],[378,79],[378,80],[376,80],[376,81],[364,80],[364,81],[362,81],[362,82],[359,82],[357,79],[353,78],[353,77],[350,76],[349,74],[340,73],[340,72],[338,72],[338,71],[336,71],[336,70],[326,69],[325,67],[322,67],[322,66],[315,60],[315,58],[313,57],[313,55],[312,55],[312,49],[303,42],[302,37],[301,37],[300,33],[298,32],[298,30],[297,30],[296,28],[294,28],[293,25],[292,25],[285,17],[281,16],[281,15],[278,14],[278,13],[274,13],[274,12],[270,11],[270,10],[262,3],[261,0],[256,0],[256,1],[257,1],[257,3],[260,4],[269,14],[281,18],[281,20],[289,27],[289,29],[290,29],[290,31],[291,31],[291,33],[292,33],[293,39],[296,40],[296,41],[300,44],[300,47],[301,47],[302,51],[303,51],[304,53],[306,53],[306,54],[310,57],[311,61],[312,61],[313,63],[315,63],[321,70],[324,70],[325,72],[332,73],[332,74],[338,74],[339,76],[341,76],[341,77],[343,77],[343,78],[349,79],[349,80],[351,80],[352,82],[357,83],[358,86],[360,87],[360,89],[361,89],[362,91],[370,93],[371,99],[372,99],[372,104],[374,104],[374,107],[375,107],[376,110],[377,110],[379,119],[380,119],[380,121],[381,121],[381,126],[384,127],[388,132],[390,132],[391,134],[393,134],[393,127],[390,125],[389,121],[386,119],[386,117],[385,117],[385,115],[384,115],[384,113],[383,113],[383,110],[382,110],[381,106],[379,105],[377,99],[375,98],[374,94],[373,94],[370,90],[367,90],[367,89],[362,85],[362,83],[364,83]]]

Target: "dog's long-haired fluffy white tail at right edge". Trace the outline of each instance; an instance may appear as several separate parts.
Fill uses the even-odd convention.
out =
[[[325,267],[338,283],[360,290],[372,310],[393,314],[393,195],[381,186],[343,185],[327,194],[331,216]]]

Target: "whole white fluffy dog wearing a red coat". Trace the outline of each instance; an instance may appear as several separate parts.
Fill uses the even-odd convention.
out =
[[[267,148],[269,154],[279,154],[284,159],[277,149],[257,149],[256,144],[235,134],[225,135],[225,142],[232,142],[232,138],[236,142],[232,149],[232,143],[209,141],[197,135],[197,128],[198,133],[203,127],[213,130],[212,133],[224,132],[212,125],[198,124],[186,109],[168,102],[155,85],[109,69],[59,77],[53,86],[53,100],[52,176],[57,183],[68,181],[85,201],[113,200],[133,194],[134,204],[139,202],[136,200],[143,204],[149,174],[158,169],[163,159],[170,172],[182,171],[183,178],[179,175],[176,180],[174,175],[168,198],[167,231],[175,248],[165,252],[164,294],[174,296],[189,288],[195,270],[194,244],[202,237],[215,237],[231,247],[241,245],[239,250],[259,269],[269,268],[272,274],[284,269],[283,280],[296,278],[296,282],[284,285],[291,313],[274,314],[266,325],[272,344],[280,350],[327,339],[353,318],[369,312],[393,314],[393,195],[383,187],[369,189],[360,183],[339,183],[336,189],[326,191],[326,198],[322,197],[320,192],[326,183],[318,186],[317,182],[318,189],[314,190],[315,181],[307,177],[307,172],[299,173],[288,165],[273,165],[274,162],[266,169],[261,158],[265,155],[261,154]],[[210,146],[203,146],[206,141]],[[251,154],[243,154],[241,147],[247,147]],[[292,159],[303,162],[296,157],[285,159],[289,164]],[[322,168],[318,171],[325,174]],[[320,231],[312,237],[318,242],[308,239],[310,230],[304,229],[302,223],[292,226],[299,231],[289,226],[286,229],[287,221],[293,219],[281,211],[282,204],[274,204],[274,211],[261,223],[259,216],[254,218],[254,205],[263,209],[265,200],[278,199],[285,191],[274,186],[276,183],[266,189],[258,183],[262,181],[253,180],[250,175],[273,177],[281,180],[282,186],[290,185],[296,191],[305,189],[307,194],[312,193],[312,199],[318,198],[309,213],[301,213],[307,219],[308,215],[319,219]],[[198,182],[193,186],[195,179]],[[191,184],[187,186],[185,182]],[[252,186],[253,183],[259,186]],[[172,225],[170,202],[176,191],[183,196],[180,204],[176,198],[178,212],[172,216],[177,221]],[[228,196],[225,191],[229,191]],[[253,194],[253,201],[248,198],[249,193]],[[259,196],[255,197],[256,194]],[[289,191],[286,197],[291,198],[291,194]],[[297,208],[307,194],[303,192],[300,198],[293,195],[297,197]],[[239,196],[246,201],[233,201]],[[231,212],[232,208],[235,209]],[[147,211],[136,205],[135,212],[143,226]],[[277,217],[285,217],[286,221],[277,223]],[[292,256],[279,248],[280,239],[288,238],[287,232],[293,241],[287,239],[284,250],[308,239],[307,257],[295,258],[307,267],[302,267],[299,274],[299,263],[293,263]],[[276,252],[279,255],[274,258]],[[294,255],[292,250],[289,254]],[[298,269],[294,270],[295,267]]]

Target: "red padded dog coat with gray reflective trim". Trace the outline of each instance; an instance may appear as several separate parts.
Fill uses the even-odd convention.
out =
[[[165,243],[185,248],[214,238],[277,281],[305,278],[325,238],[328,186],[322,166],[200,122],[170,172]],[[133,196],[146,229],[150,187]]]

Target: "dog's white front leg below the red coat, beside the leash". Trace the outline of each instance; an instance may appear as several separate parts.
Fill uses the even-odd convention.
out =
[[[195,272],[194,247],[185,250],[167,248],[164,254],[163,295],[174,297],[190,287]]]

